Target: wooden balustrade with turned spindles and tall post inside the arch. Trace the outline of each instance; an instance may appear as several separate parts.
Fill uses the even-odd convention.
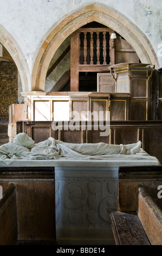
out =
[[[115,64],[110,28],[79,28],[70,35],[70,91],[79,92],[80,72],[108,72]]]

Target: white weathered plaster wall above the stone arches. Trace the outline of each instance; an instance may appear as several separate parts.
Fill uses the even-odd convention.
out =
[[[125,15],[144,32],[155,53],[162,57],[159,44],[162,41],[162,2],[161,0],[98,0]],[[1,0],[1,25],[16,40],[24,59],[33,69],[38,50],[47,35],[63,19],[84,5],[94,3],[89,0]]]

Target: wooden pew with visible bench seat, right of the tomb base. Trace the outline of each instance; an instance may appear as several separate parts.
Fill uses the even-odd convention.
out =
[[[111,213],[116,245],[162,245],[162,167],[119,167],[118,211]]]

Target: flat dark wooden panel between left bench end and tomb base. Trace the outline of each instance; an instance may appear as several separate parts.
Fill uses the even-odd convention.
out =
[[[17,182],[19,240],[32,240],[33,238],[50,240],[53,238],[55,231],[54,200],[54,182]]]

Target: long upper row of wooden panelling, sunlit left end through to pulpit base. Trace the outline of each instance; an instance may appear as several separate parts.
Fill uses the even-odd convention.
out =
[[[136,82],[136,81],[132,81]],[[144,81],[145,82],[145,81]],[[146,92],[146,86],[139,86],[142,89],[142,95],[148,96]],[[124,89],[124,87],[122,87]],[[76,111],[77,116],[75,115],[75,120],[91,120],[85,116],[84,112],[93,112],[96,111],[99,115],[99,112],[104,112],[104,120],[107,120],[105,116],[105,111],[109,111],[109,103],[111,100],[111,120],[151,120],[152,118],[152,99],[150,97],[135,97],[139,95],[136,93],[134,84],[133,84],[134,97],[128,93],[88,93],[81,95],[64,95],[61,94],[56,96],[46,96],[46,97],[30,97],[31,102],[28,107],[28,116],[31,114],[31,120],[35,121],[44,120],[44,115],[46,115],[46,120],[72,120],[72,112]],[[48,99],[48,101],[47,101]],[[38,101],[38,102],[37,102]],[[130,102],[130,104],[129,104]],[[131,104],[132,102],[132,104]],[[38,103],[38,105],[37,105]],[[42,104],[42,105],[41,105]],[[40,110],[44,108],[42,112],[42,118],[36,106],[40,106]],[[125,106],[124,106],[125,105]],[[131,105],[131,107],[129,107]],[[48,108],[49,107],[49,108]],[[44,114],[43,114],[44,113]],[[50,118],[49,118],[50,117]],[[92,119],[94,120],[94,119]],[[96,120],[96,119],[95,119]]]

